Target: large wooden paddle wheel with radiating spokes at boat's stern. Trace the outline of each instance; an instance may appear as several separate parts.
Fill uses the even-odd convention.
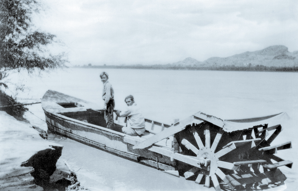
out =
[[[203,122],[196,124],[193,121],[174,134],[175,154],[191,157],[199,165],[178,158],[179,174],[187,180],[208,188],[213,186],[215,190],[265,188],[286,180],[278,167],[291,168],[292,162],[274,154],[291,148],[291,142],[270,145],[281,132],[281,125],[268,127],[264,124],[227,132],[208,122],[211,120],[197,119]]]

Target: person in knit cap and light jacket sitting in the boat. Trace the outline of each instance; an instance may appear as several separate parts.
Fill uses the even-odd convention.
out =
[[[122,132],[131,136],[144,134],[145,119],[143,117],[142,112],[140,111],[140,108],[134,102],[133,96],[127,96],[125,98],[125,103],[128,106],[125,111],[115,111],[118,117],[128,117],[127,127],[122,127]]]

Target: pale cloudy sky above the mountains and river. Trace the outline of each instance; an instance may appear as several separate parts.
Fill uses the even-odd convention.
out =
[[[284,45],[298,51],[297,0],[41,0],[35,26],[70,65],[168,64]]]

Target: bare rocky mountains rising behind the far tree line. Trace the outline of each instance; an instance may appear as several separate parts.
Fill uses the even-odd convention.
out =
[[[244,52],[226,58],[211,57],[203,62],[193,58],[167,64],[171,67],[255,67],[263,65],[266,67],[297,67],[298,51],[289,52],[288,48],[282,45],[267,47],[260,51]]]

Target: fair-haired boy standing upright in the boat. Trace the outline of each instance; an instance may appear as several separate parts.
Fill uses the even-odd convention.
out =
[[[100,74],[100,78],[102,79],[102,83],[103,83],[102,99],[105,101],[104,110],[105,110],[106,128],[113,129],[114,127],[113,111],[115,108],[114,90],[110,82],[108,82],[109,75],[106,72],[102,72]]]

